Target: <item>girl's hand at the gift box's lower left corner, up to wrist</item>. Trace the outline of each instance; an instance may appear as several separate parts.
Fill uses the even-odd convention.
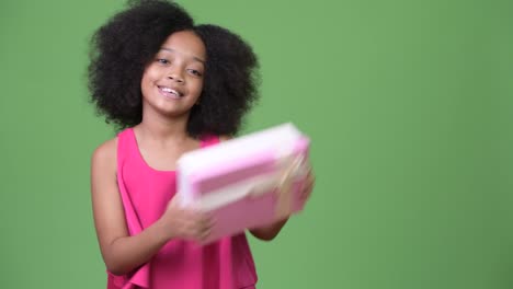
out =
[[[169,230],[168,238],[198,242],[206,240],[214,226],[212,216],[182,207],[179,198],[179,194],[176,194],[170,200],[161,218],[166,230]]]

